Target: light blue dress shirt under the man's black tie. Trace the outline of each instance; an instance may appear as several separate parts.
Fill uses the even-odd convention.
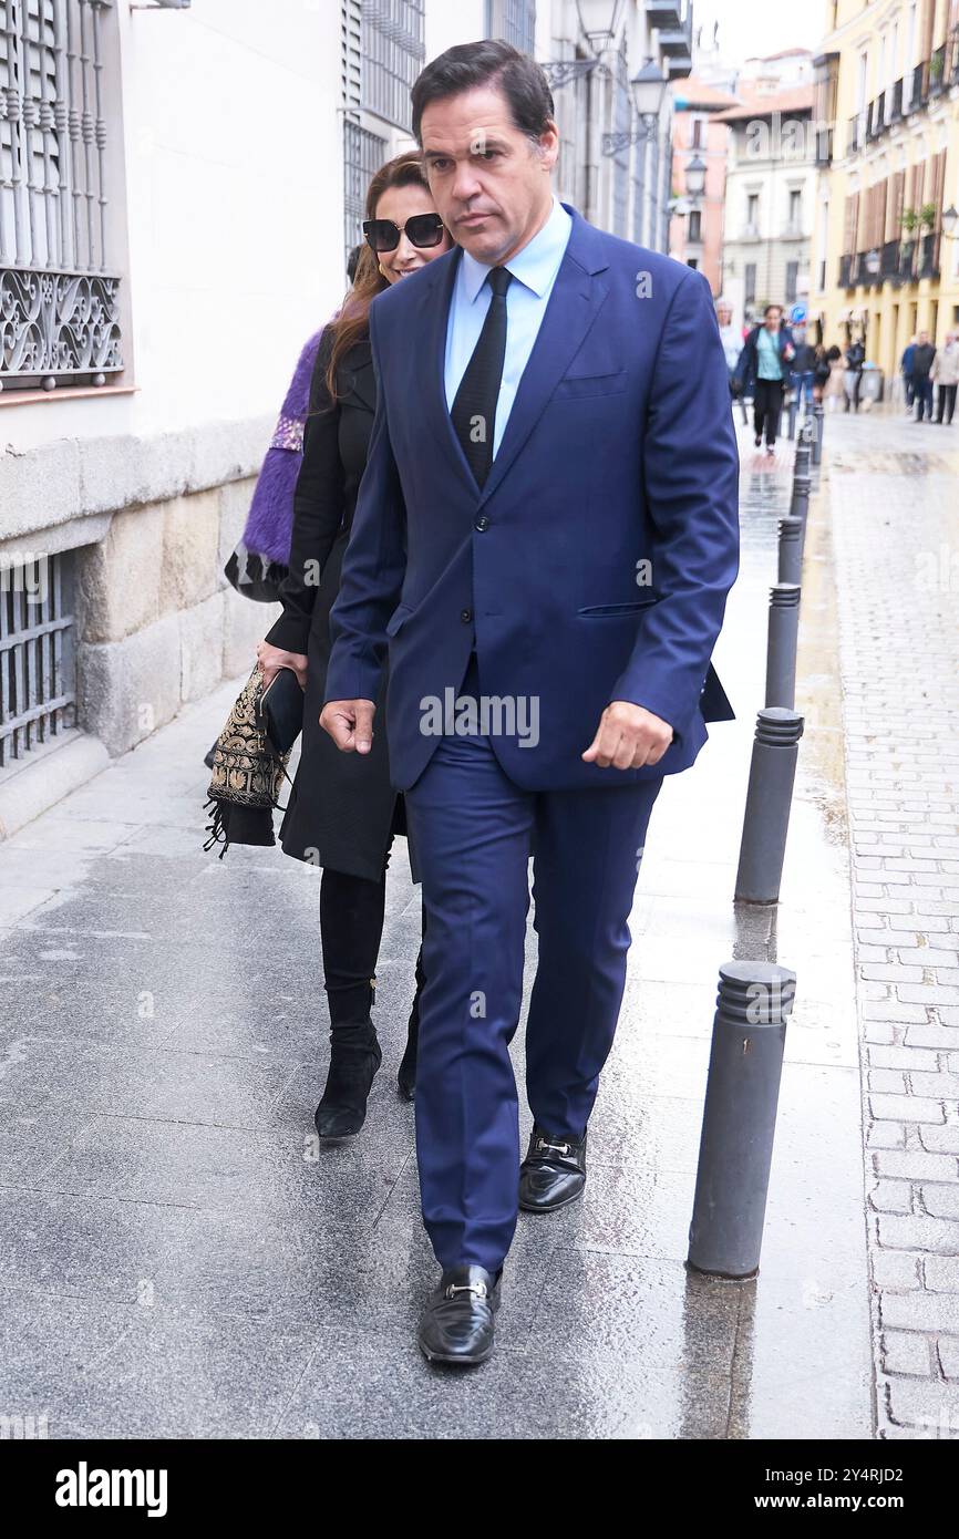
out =
[[[516,391],[530,362],[571,229],[573,220],[559,199],[554,197],[553,211],[543,228],[522,251],[510,257],[510,262],[502,263],[513,274],[513,282],[506,289],[506,357],[493,426],[494,459],[503,440]],[[488,272],[490,266],[463,251],[446,320],[445,385],[449,409],[490,309],[493,294],[486,283]]]

